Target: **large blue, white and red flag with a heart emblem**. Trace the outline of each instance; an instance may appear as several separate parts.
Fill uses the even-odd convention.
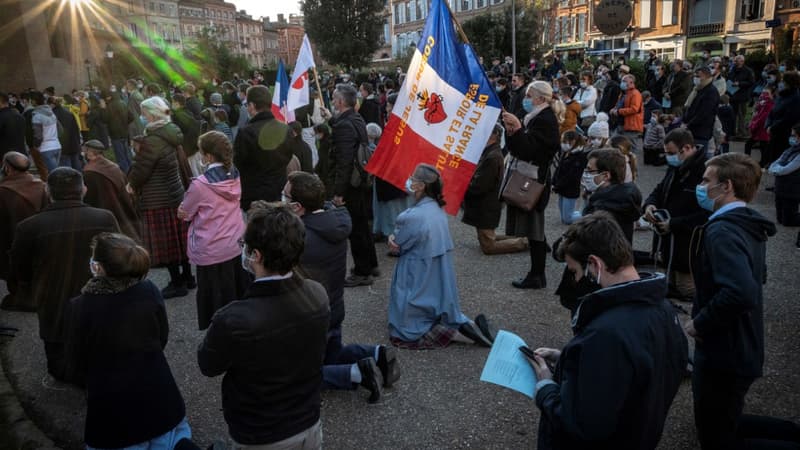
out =
[[[434,0],[367,170],[403,189],[417,164],[436,166],[445,210],[455,215],[500,109],[472,47],[456,38],[447,5]]]

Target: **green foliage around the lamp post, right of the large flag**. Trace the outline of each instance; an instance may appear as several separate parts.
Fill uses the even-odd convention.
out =
[[[533,53],[533,43],[541,29],[538,17],[541,11],[531,2],[523,6],[517,3],[517,67],[524,67]],[[511,55],[511,8],[501,13],[486,13],[461,24],[470,44],[486,64],[497,56],[501,59]],[[519,69],[518,69],[519,70]]]

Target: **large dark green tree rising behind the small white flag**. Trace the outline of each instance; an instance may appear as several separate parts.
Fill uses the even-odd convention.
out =
[[[380,47],[383,0],[303,0],[309,39],[322,58],[348,71],[365,67]]]

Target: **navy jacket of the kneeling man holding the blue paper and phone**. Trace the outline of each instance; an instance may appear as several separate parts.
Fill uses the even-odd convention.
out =
[[[654,449],[688,362],[662,274],[582,298],[554,383],[536,392],[538,448]]]

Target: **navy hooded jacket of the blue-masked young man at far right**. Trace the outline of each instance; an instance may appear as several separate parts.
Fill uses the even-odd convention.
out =
[[[767,238],[775,225],[743,207],[727,211],[692,237],[696,294],[692,319],[700,339],[696,368],[760,377],[764,365]]]

